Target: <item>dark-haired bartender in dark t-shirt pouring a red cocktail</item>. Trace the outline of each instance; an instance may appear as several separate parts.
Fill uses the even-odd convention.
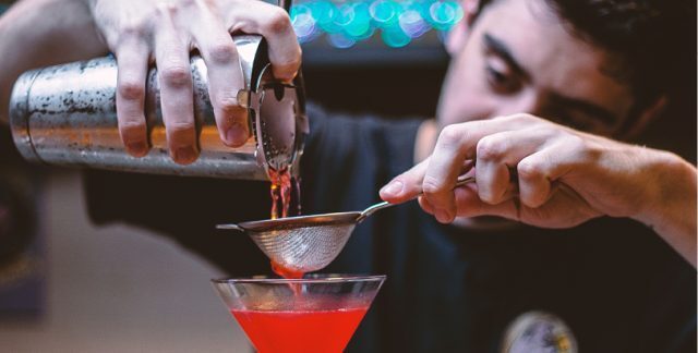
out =
[[[388,276],[350,349],[562,352],[559,337],[527,334],[541,321],[526,318],[537,317],[582,351],[695,352],[696,167],[630,143],[666,119],[673,94],[695,89],[682,81],[695,76],[685,74],[695,70],[686,54],[694,51],[675,40],[694,32],[695,1],[461,5],[436,120],[308,109],[305,212],[363,209],[378,192],[396,203],[425,193],[419,206],[366,220],[326,269]],[[33,21],[49,11],[50,21]],[[301,59],[288,16],[253,0],[27,0],[0,31],[8,34],[0,38],[3,112],[20,72],[112,51],[121,136],[134,156],[147,153],[144,85],[155,61],[166,73],[170,155],[183,165],[198,153],[182,70],[192,49],[219,70],[209,94],[231,146],[249,127],[231,98],[241,87],[228,34],[264,35],[278,77],[291,77]],[[453,191],[461,173],[477,184]],[[248,239],[213,226],[265,218],[265,187],[87,179],[96,222],[157,230],[231,276],[268,272],[268,264]]]

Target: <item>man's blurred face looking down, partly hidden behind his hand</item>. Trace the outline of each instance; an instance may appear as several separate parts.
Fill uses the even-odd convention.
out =
[[[543,0],[486,5],[456,49],[437,117],[447,125],[528,112],[603,135],[633,105],[629,88],[604,73],[605,53],[575,37]]]

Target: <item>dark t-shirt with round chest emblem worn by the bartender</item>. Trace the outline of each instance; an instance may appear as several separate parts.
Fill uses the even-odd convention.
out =
[[[420,120],[329,115],[309,107],[304,212],[360,210],[412,165]],[[125,221],[180,242],[230,276],[269,273],[224,222],[268,217],[268,184],[88,172],[98,223]],[[650,229],[602,218],[569,230],[472,231],[408,203],[357,227],[324,272],[387,280],[353,337],[356,352],[497,352],[520,314],[544,311],[581,352],[695,352],[696,271]],[[322,334],[322,332],[318,332]]]

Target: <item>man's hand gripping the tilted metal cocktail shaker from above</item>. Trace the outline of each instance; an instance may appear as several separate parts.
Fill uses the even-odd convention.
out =
[[[269,44],[274,75],[290,81],[301,49],[288,14],[256,0],[91,0],[96,25],[117,57],[119,132],[133,156],[147,154],[144,117],[148,63],[155,62],[171,157],[186,165],[197,156],[189,58],[198,50],[208,68],[208,90],[226,145],[249,137],[246,111],[237,93],[244,88],[231,33],[260,34]]]

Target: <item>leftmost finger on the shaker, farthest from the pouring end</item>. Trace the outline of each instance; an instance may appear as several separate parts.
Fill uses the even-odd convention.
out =
[[[145,124],[145,80],[148,50],[137,39],[124,40],[117,50],[117,120],[127,151],[134,157],[148,153]]]

